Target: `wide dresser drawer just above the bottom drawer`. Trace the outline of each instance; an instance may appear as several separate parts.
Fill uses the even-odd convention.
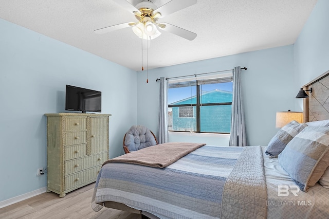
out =
[[[106,159],[107,152],[65,161],[65,175],[76,173],[90,167],[102,165]]]

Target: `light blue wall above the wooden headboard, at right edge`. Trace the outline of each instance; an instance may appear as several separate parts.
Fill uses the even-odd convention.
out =
[[[319,0],[294,45],[296,89],[329,70],[328,11],[329,1]]]

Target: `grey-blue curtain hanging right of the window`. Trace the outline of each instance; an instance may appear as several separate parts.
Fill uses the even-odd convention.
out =
[[[242,101],[242,87],[241,87],[241,67],[234,67],[233,71],[233,100],[232,100],[232,122],[231,122],[231,136],[230,146],[246,146],[246,127],[245,115]]]

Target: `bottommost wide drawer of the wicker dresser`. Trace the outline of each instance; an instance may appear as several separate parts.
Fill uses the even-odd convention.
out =
[[[65,176],[64,187],[65,190],[78,187],[88,181],[96,181],[101,165],[93,167],[72,175]]]

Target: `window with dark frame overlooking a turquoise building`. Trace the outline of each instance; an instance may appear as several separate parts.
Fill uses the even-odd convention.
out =
[[[230,133],[232,97],[232,77],[170,83],[169,131]]]

